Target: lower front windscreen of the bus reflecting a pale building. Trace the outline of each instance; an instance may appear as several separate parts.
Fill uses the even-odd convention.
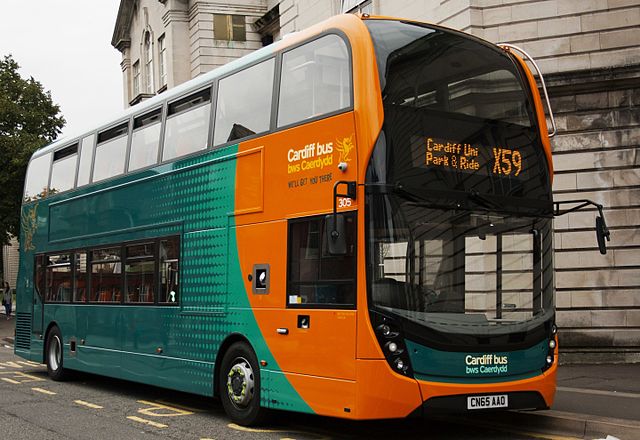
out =
[[[468,213],[446,220],[450,212],[419,209],[426,221],[377,243],[376,304],[467,325],[522,322],[550,310],[542,274],[548,222]]]

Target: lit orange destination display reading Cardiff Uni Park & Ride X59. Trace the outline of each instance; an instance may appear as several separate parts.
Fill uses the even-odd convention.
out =
[[[519,149],[459,143],[448,139],[425,138],[424,164],[427,167],[486,172],[490,175],[520,177],[526,170]]]

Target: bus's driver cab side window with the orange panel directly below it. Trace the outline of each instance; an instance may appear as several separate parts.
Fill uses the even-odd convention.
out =
[[[332,216],[292,219],[288,224],[286,313],[278,331],[288,344],[293,373],[355,379],[356,213],[339,214],[344,252],[329,249]],[[283,330],[284,329],[284,330]]]

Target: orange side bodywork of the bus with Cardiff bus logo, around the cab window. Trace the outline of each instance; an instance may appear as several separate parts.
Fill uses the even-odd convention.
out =
[[[262,161],[254,159],[254,165],[248,166],[246,158],[258,156],[256,151],[260,151]],[[329,214],[334,184],[338,180],[357,181],[357,153],[353,112],[240,145],[234,211],[239,264],[248,293],[247,306],[254,310],[261,339],[273,356],[265,359],[267,368],[286,373],[270,377],[290,384],[286,393],[273,386],[267,390],[270,400],[282,402],[283,409],[295,410],[285,402],[289,395],[299,395],[305,405],[320,414],[350,417],[344,408],[353,410],[355,310],[287,307],[286,289],[288,219]],[[338,169],[341,162],[347,164],[344,171]],[[264,177],[257,180],[260,174]],[[349,199],[340,208],[354,210],[357,203]],[[253,293],[247,275],[254,265],[269,265],[267,294]],[[304,317],[309,318],[309,328],[299,327],[298,321]],[[288,334],[279,334],[278,329],[286,329]],[[258,354],[258,359],[264,358]],[[278,398],[272,398],[275,392]]]

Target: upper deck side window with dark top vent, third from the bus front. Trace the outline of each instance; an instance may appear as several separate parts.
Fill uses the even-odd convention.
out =
[[[162,160],[207,148],[211,89],[206,88],[169,104]]]

